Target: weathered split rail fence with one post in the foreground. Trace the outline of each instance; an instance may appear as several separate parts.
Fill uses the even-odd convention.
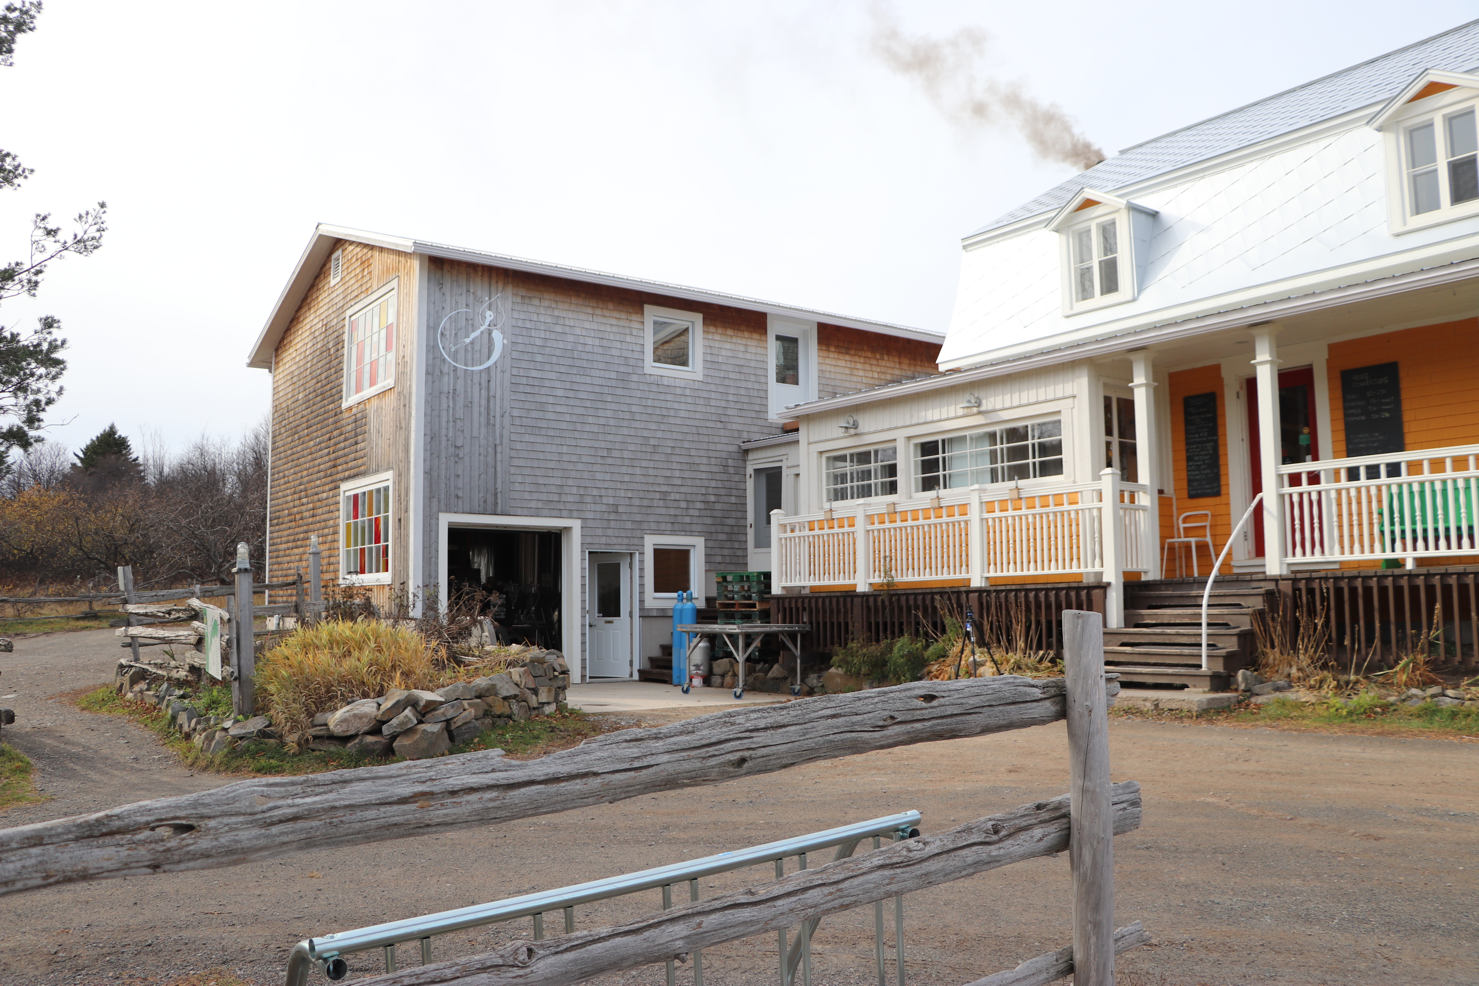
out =
[[[1140,786],[1109,781],[1102,619],[1063,613],[1066,679],[916,681],[737,708],[660,729],[623,730],[532,761],[473,752],[213,791],[0,829],[0,896],[87,880],[234,866],[288,853],[495,826],[538,815],[908,744],[1068,720],[1066,795],[976,819],[815,869],[612,928],[516,942],[497,952],[361,980],[376,986],[575,983],[723,942],[1068,850],[1072,945],[972,986],[1111,986],[1112,837],[1139,828]]]

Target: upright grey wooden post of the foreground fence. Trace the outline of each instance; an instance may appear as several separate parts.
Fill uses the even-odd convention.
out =
[[[1068,684],[1068,859],[1074,871],[1074,983],[1114,986],[1114,812],[1099,613],[1063,611]]]

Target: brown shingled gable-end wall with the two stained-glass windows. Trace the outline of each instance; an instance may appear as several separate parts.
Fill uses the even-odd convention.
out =
[[[278,343],[272,371],[272,495],[269,578],[308,574],[308,540],[322,547],[324,582],[339,582],[339,485],[361,476],[395,473],[390,578],[408,579],[407,516],[411,485],[407,421],[414,392],[416,266],[404,253],[356,242],[345,251],[339,284],[328,284],[328,260]],[[395,386],[343,408],[345,315],[392,279],[396,290]],[[389,590],[376,590],[382,599]]]

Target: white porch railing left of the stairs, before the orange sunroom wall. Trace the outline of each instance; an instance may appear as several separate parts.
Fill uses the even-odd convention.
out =
[[[772,514],[775,584],[984,585],[1000,577],[1149,572],[1152,497],[1105,470],[1097,483],[986,492],[981,486],[893,503]],[[1114,532],[1106,538],[1105,532]],[[1108,572],[1115,575],[1111,577]],[[1111,624],[1114,625],[1114,624]]]

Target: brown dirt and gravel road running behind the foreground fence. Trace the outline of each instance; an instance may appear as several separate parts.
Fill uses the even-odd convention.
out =
[[[118,650],[105,636],[22,640],[0,655],[0,693],[16,695],[6,705],[19,718],[6,735],[55,798],[0,823],[229,781],[192,775],[121,720],[46,698],[108,679]],[[1145,825],[1115,843],[1117,919],[1145,921],[1157,942],[1121,959],[1123,982],[1479,982],[1479,744],[1124,721],[1111,726],[1111,744],[1115,779],[1145,788]],[[306,936],[905,809],[923,812],[926,831],[950,828],[1066,791],[1065,755],[1057,723],[490,829],[0,897],[0,983],[158,982],[219,965],[278,983],[287,949]],[[750,871],[703,891],[763,878]],[[654,893],[581,909],[577,927],[655,906]],[[451,936],[436,955],[525,936],[525,925]],[[905,903],[910,983],[964,983],[1068,937],[1066,857]],[[830,917],[813,982],[868,983],[871,955],[871,911]],[[774,982],[775,943],[737,942],[704,962],[716,986]],[[351,967],[370,974],[380,962],[355,956]],[[660,983],[663,971],[609,982]]]

